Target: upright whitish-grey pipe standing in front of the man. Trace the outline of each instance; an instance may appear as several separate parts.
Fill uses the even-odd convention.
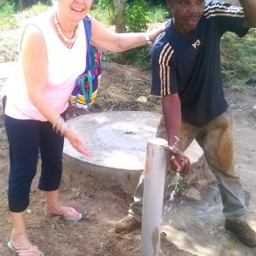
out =
[[[148,140],[143,194],[141,256],[158,256],[166,178],[167,141]]]

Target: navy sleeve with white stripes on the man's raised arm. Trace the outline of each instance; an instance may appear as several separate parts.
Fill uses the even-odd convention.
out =
[[[207,20],[218,20],[218,27],[222,34],[229,31],[235,32],[239,37],[244,37],[248,32],[247,28],[242,27],[245,15],[241,7],[211,1],[207,3],[204,16]]]

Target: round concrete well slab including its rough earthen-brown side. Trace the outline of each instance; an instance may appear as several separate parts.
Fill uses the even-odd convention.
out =
[[[159,121],[159,113],[142,111],[89,113],[68,120],[68,125],[84,138],[86,148],[93,156],[79,154],[66,140],[64,182],[71,187],[116,187],[133,195],[144,170],[147,140],[155,136]],[[186,153],[191,161],[187,183],[192,183],[197,173],[204,173],[206,162],[203,151],[195,142]]]

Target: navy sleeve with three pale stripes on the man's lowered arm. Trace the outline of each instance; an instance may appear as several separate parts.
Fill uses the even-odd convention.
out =
[[[177,93],[177,78],[172,61],[174,50],[167,43],[152,55],[152,88],[151,94],[166,96]]]

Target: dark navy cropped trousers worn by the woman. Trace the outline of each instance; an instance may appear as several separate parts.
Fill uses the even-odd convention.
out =
[[[4,125],[9,140],[9,210],[23,212],[29,205],[32,179],[37,172],[38,148],[42,160],[38,189],[59,189],[64,137],[56,134],[49,122],[13,119],[5,114]]]

